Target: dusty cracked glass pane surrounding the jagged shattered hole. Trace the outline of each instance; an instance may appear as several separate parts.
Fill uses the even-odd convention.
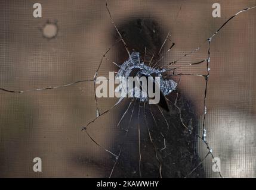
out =
[[[255,178],[256,8],[212,36],[255,1],[219,1],[220,18],[212,1],[42,1],[42,18],[34,3],[0,2],[1,177]],[[95,72],[128,60],[121,37],[178,83],[169,112],[101,98],[95,119]]]

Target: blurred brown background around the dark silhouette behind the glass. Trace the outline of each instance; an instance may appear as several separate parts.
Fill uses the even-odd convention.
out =
[[[68,84],[93,78],[101,56],[112,43],[113,25],[105,1],[37,1],[42,18],[33,17],[35,1],[0,2],[0,87],[28,90]],[[224,21],[255,1],[218,1],[221,18],[212,17],[215,1],[109,1],[116,25],[128,18],[149,17],[164,33],[171,30],[172,49],[164,62],[180,58],[198,47]],[[211,73],[206,99],[208,142],[221,159],[224,177],[255,178],[255,16],[256,9],[230,21],[211,45]],[[47,20],[57,20],[56,39],[42,37]],[[132,48],[132,47],[131,47]],[[179,64],[206,56],[206,46]],[[115,60],[115,52],[110,52]],[[103,64],[99,75],[116,71]],[[181,72],[202,73],[205,66],[184,66]],[[180,89],[203,113],[203,78],[182,77]],[[101,164],[108,156],[81,132],[95,117],[93,83],[81,83],[50,91],[11,94],[1,91],[0,176],[1,177],[101,177]],[[99,100],[101,110],[115,99]],[[112,125],[123,112],[119,107],[94,125],[92,134],[109,146]],[[116,116],[118,115],[118,116]],[[109,127],[102,127],[102,126]],[[199,143],[201,157],[206,148]],[[33,172],[33,158],[41,157],[42,172]],[[94,162],[88,163],[87,157]],[[212,172],[208,158],[203,167]]]

